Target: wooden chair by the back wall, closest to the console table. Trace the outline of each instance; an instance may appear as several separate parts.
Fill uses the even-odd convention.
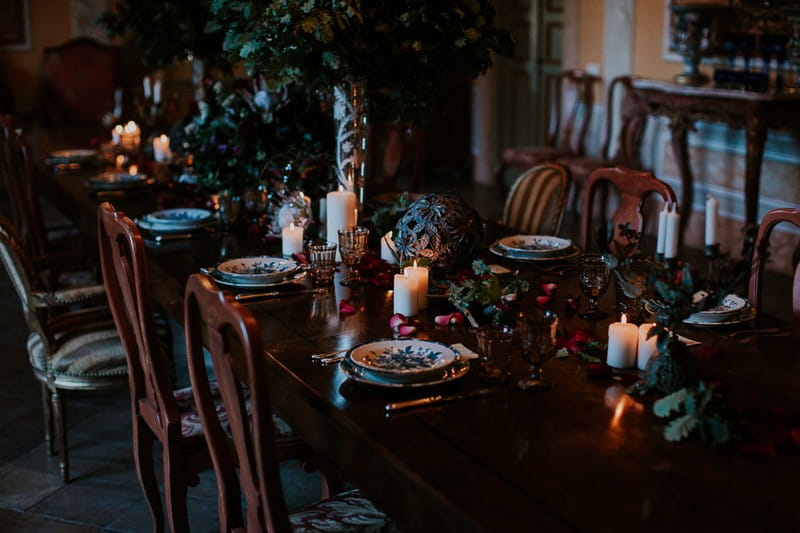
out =
[[[633,91],[633,77],[617,76],[608,86],[606,96],[605,116],[605,141],[596,156],[570,155],[560,157],[558,163],[569,168],[574,183],[574,210],[577,212],[583,199],[583,190],[591,174],[600,167],[623,166],[640,170],[642,161],[640,157],[642,139],[647,127],[647,111],[643,110],[636,93]],[[621,91],[621,93],[620,93]],[[619,96],[619,98],[617,98]],[[619,99],[619,115],[615,104]],[[619,124],[616,134],[616,150],[612,154],[611,146],[614,141],[614,124]],[[607,195],[604,195],[599,205],[605,206]]]

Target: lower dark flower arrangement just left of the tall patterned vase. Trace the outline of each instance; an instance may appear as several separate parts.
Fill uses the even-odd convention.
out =
[[[209,189],[307,185],[305,192],[314,194],[330,187],[331,131],[330,115],[301,94],[268,91],[263,80],[207,82],[184,128],[182,152],[191,155],[198,182]],[[288,160],[303,168],[285,172]]]

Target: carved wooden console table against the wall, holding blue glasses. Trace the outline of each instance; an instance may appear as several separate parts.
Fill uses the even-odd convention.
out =
[[[724,122],[744,128],[747,152],[744,175],[745,220],[758,222],[761,162],[769,129],[800,126],[800,95],[758,93],[716,87],[687,87],[671,82],[635,79],[633,90],[643,112],[669,117],[672,150],[681,173],[681,235],[692,211],[694,178],[689,163],[687,134],[697,120]]]

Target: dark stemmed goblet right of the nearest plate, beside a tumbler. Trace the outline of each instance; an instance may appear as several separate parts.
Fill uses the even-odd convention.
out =
[[[549,309],[544,313],[520,314],[517,318],[517,337],[522,358],[531,366],[530,375],[517,381],[522,390],[541,390],[550,387],[542,375],[542,365],[556,352],[555,326],[558,317]]]

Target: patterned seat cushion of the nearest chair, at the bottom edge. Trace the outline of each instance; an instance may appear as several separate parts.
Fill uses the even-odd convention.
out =
[[[289,515],[295,533],[398,531],[397,525],[358,490],[342,492]]]

